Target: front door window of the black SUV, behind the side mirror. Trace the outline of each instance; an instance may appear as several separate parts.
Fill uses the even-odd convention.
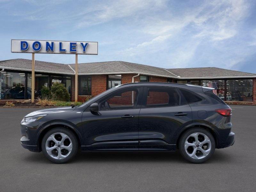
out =
[[[139,88],[129,88],[117,91],[99,103],[100,110],[117,110],[136,108]]]

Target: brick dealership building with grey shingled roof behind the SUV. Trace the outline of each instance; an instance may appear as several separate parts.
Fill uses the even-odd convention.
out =
[[[31,60],[0,61],[0,103],[31,98]],[[256,105],[256,74],[215,67],[165,69],[124,61],[78,64],[78,101],[84,102],[116,85],[169,82],[215,88],[228,104]],[[62,83],[75,100],[75,64],[35,61],[35,98],[43,86]]]

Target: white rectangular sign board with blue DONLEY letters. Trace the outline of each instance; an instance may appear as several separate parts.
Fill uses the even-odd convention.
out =
[[[98,42],[12,39],[13,53],[57,53],[98,55]]]

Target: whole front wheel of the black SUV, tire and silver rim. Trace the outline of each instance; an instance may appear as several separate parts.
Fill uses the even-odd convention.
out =
[[[44,156],[53,163],[66,163],[78,150],[76,135],[67,128],[57,127],[48,131],[42,140]]]

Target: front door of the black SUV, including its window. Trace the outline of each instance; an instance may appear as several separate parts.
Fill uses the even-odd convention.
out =
[[[139,87],[124,88],[98,100],[98,112],[84,111],[83,134],[88,150],[139,149],[141,94]]]

